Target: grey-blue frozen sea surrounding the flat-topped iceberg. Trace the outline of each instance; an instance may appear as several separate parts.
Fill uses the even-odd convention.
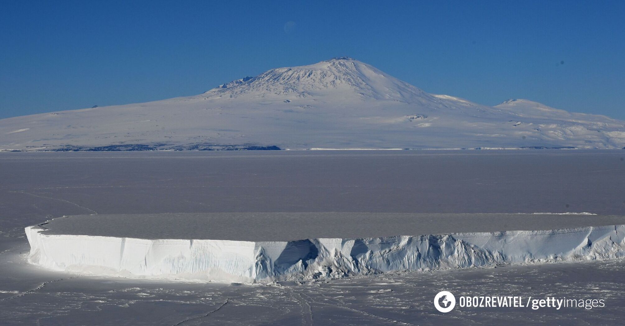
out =
[[[617,325],[625,317],[620,259],[304,284],[156,282],[29,265],[23,228],[85,214],[625,215],[623,157],[625,151],[547,150],[3,152],[0,320],[7,325]],[[596,215],[575,216],[592,225]],[[457,296],[604,299],[606,307],[462,308],[442,314],[432,304],[440,290]]]

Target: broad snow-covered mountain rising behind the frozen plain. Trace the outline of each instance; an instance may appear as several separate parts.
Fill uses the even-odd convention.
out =
[[[340,57],[204,94],[0,120],[0,150],[622,148],[625,121],[428,94]]]

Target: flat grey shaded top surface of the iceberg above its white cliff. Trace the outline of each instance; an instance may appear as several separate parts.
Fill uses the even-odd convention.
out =
[[[59,217],[40,224],[47,235],[137,239],[291,241],[392,235],[550,230],[625,224],[625,217],[591,214],[429,213],[172,213]]]

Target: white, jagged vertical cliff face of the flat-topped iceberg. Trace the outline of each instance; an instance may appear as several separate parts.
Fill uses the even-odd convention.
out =
[[[146,240],[42,230],[39,225],[26,227],[29,262],[48,269],[219,282],[269,283],[625,255],[625,225],[289,242]]]

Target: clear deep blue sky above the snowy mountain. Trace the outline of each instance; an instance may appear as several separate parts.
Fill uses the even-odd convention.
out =
[[[199,94],[336,56],[424,91],[625,119],[625,1],[8,1],[0,118]]]

